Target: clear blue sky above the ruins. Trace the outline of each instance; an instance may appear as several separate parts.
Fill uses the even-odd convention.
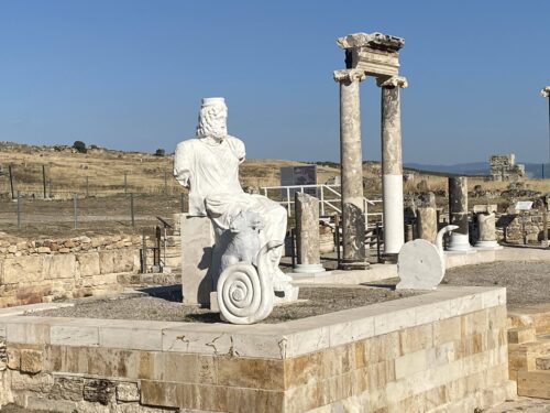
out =
[[[0,0],[0,140],[173,152],[223,96],[249,157],[339,157],[336,39],[405,37],[405,162],[548,162],[549,1]],[[363,157],[380,89],[362,84]]]

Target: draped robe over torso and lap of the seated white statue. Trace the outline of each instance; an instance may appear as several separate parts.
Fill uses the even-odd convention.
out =
[[[210,217],[219,237],[239,213],[253,210],[265,224],[260,232],[262,244],[271,240],[283,241],[286,209],[265,196],[243,192],[239,165],[244,157],[244,143],[229,135],[221,141],[189,139],[177,145],[174,176],[189,188],[189,215]]]

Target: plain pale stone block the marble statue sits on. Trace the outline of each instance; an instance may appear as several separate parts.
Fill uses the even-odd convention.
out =
[[[182,214],[180,231],[184,304],[207,306],[210,304],[210,293],[216,291],[209,271],[216,242],[212,225],[208,217]]]

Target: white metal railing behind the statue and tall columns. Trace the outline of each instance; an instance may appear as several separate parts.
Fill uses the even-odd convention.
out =
[[[292,186],[265,186],[261,188],[262,194],[270,199],[277,200],[286,207],[289,217],[294,210],[294,194],[307,193],[319,198],[319,214],[327,216],[332,214],[342,214],[340,208],[342,195],[340,185],[292,185]],[[375,228],[376,222],[383,222],[384,214],[382,211],[369,213],[369,207],[382,204],[382,199],[363,198],[363,210],[365,211],[366,228]]]

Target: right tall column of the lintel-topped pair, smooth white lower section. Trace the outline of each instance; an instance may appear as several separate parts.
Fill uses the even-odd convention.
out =
[[[402,76],[378,78],[382,88],[382,198],[384,199],[384,253],[398,253],[404,243],[402,112],[399,88],[407,87]]]

